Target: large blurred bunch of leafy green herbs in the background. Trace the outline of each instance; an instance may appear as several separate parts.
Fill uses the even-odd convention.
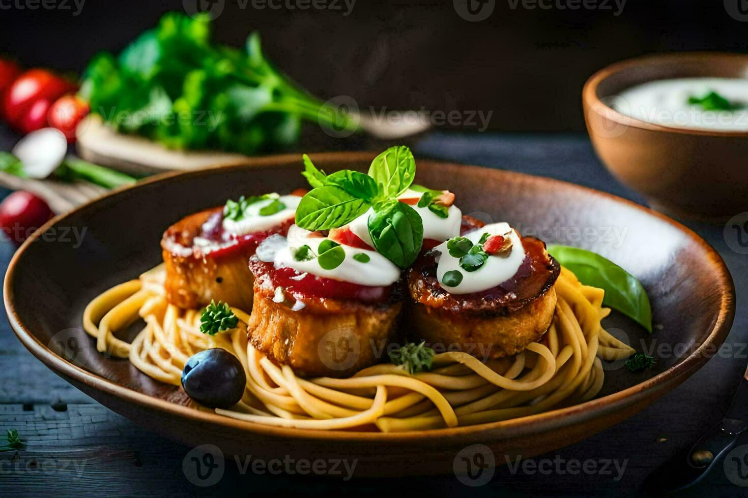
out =
[[[118,57],[96,55],[81,95],[111,128],[173,149],[272,152],[296,142],[303,119],[358,128],[275,69],[256,32],[244,50],[210,38],[207,14],[166,13]]]

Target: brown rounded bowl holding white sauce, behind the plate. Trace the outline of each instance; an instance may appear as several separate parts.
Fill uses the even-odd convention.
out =
[[[629,87],[690,77],[746,78],[748,55],[654,55],[602,69],[582,91],[589,137],[607,169],[658,211],[732,217],[748,211],[748,132],[670,128],[609,107],[612,98]]]

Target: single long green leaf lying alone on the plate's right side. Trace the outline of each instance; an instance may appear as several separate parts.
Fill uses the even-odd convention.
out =
[[[603,305],[620,311],[652,333],[652,306],[637,278],[595,252],[569,246],[548,246],[548,252],[580,282],[605,290]]]

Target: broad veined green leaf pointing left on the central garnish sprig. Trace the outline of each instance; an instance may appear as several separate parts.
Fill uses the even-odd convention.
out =
[[[366,213],[370,203],[340,187],[316,187],[301,198],[296,208],[296,225],[307,230],[329,230],[352,222]]]

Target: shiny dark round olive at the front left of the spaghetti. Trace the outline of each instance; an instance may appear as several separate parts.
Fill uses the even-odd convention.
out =
[[[201,405],[230,408],[242,399],[247,376],[236,356],[214,348],[192,355],[182,372],[182,387]]]

